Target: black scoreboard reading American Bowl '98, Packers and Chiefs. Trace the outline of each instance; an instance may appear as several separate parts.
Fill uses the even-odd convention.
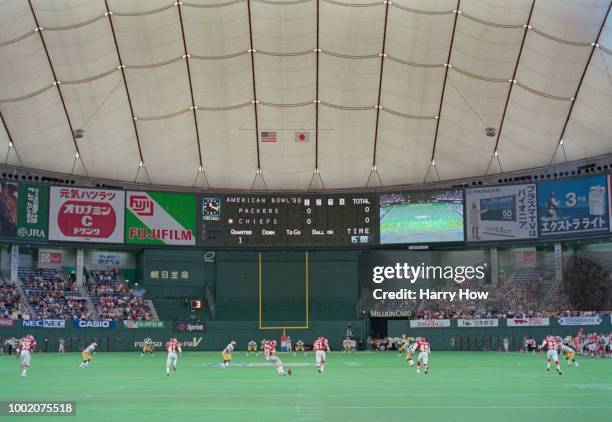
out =
[[[368,246],[378,195],[224,194],[198,199],[201,246]]]

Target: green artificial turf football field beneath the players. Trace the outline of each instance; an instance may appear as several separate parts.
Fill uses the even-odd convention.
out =
[[[19,361],[0,356],[0,400],[70,400],[68,421],[612,421],[612,361],[562,362],[546,373],[543,355],[433,352],[417,375],[395,352],[328,354],[324,374],[314,353],[279,355],[292,376],[278,376],[258,357],[188,352],[165,375],[165,354],[98,353],[33,356],[27,378]],[[39,420],[5,417],[2,421]]]

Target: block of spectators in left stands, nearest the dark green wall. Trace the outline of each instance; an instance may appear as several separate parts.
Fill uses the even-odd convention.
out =
[[[92,271],[87,285],[101,319],[152,320],[153,312],[147,301],[132,294],[115,270]]]

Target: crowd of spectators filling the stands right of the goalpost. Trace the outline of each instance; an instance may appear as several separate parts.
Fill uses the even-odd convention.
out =
[[[591,285],[569,282],[576,273],[605,280]],[[581,275],[582,280],[584,277]],[[438,283],[431,287],[435,291],[458,293],[460,289],[487,292],[483,299],[449,300],[371,300],[367,309],[372,311],[407,311],[416,319],[477,319],[477,318],[535,318],[585,316],[590,311],[580,309],[612,309],[608,303],[612,301],[610,277],[606,269],[601,268],[592,260],[576,259],[566,263],[564,281],[555,277],[554,269],[544,265],[542,268],[519,268],[512,272],[499,274],[496,284],[488,280],[467,280],[456,283],[452,280]],[[577,301],[577,292],[582,292],[587,299]],[[367,294],[367,293],[366,293]],[[593,295],[599,295],[604,300],[593,300]],[[605,298],[609,297],[608,302]],[[609,312],[597,312],[607,315]]]

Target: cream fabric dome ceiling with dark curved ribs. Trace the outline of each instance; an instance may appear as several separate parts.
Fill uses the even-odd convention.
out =
[[[0,151],[58,173],[258,190],[596,157],[612,152],[610,7],[5,0]]]

